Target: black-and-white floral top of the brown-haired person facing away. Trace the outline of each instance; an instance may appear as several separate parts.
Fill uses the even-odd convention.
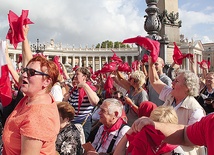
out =
[[[80,131],[72,123],[63,128],[57,136],[56,150],[60,155],[81,155]]]

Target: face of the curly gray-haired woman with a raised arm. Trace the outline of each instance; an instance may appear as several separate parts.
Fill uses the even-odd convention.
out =
[[[184,79],[184,75],[180,74],[178,75],[175,80],[172,82],[172,95],[176,96],[176,95],[180,95],[180,94],[187,94],[188,92],[188,88],[185,85],[185,79]]]

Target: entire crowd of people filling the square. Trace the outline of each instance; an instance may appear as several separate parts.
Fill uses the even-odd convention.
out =
[[[127,70],[114,58],[114,69],[75,66],[69,74],[32,54],[28,31],[21,68],[5,48],[17,93],[3,107],[3,155],[214,154],[214,72],[206,64],[200,78],[174,64],[164,72],[164,60],[151,56]]]

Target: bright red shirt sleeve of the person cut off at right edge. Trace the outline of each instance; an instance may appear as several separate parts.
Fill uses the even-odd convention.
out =
[[[214,113],[202,118],[200,122],[187,127],[189,140],[196,145],[208,148],[208,155],[214,154]]]

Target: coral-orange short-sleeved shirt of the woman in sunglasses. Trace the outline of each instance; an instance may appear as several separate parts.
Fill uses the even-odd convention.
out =
[[[55,154],[55,141],[60,129],[59,113],[51,104],[24,104],[24,97],[8,117],[3,131],[3,154],[21,154],[21,135],[43,141],[40,154]]]

